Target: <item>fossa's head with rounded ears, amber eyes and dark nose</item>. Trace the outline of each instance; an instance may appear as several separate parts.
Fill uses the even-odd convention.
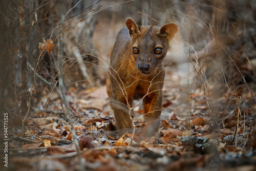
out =
[[[178,26],[174,23],[164,26],[138,26],[134,20],[127,18],[125,25],[131,37],[130,54],[132,54],[136,68],[144,75],[154,73],[162,63],[168,51],[168,45]]]

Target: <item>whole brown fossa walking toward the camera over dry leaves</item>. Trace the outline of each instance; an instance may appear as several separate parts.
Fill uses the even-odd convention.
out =
[[[163,59],[170,40],[178,32],[174,23],[164,26],[138,26],[125,21],[111,54],[107,92],[114,110],[118,134],[132,131],[133,99],[143,98],[145,126],[143,136],[159,129],[164,81]]]

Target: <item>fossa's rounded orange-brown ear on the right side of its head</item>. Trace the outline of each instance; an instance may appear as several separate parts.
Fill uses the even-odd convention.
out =
[[[168,39],[168,41],[172,40],[175,34],[179,31],[179,27],[175,23],[169,23],[163,25],[159,32],[157,33],[161,37]]]

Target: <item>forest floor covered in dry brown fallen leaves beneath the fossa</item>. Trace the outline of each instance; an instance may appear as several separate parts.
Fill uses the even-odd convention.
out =
[[[175,79],[172,71],[166,72],[165,79]],[[8,167],[2,164],[1,170],[80,170],[79,161],[86,170],[255,170],[255,146],[248,148],[249,141],[255,141],[250,136],[255,104],[247,109],[246,116],[238,118],[234,108],[228,115],[220,112],[212,118],[204,89],[198,88],[189,96],[193,105],[187,109],[177,105],[180,90],[165,86],[158,134],[139,141],[140,134],[136,133],[131,145],[132,134],[117,138],[113,131],[114,115],[105,86],[86,90],[70,87],[66,98],[75,111],[71,115],[81,159],[58,96],[54,94],[48,106],[46,96],[34,97],[36,104],[25,123],[25,136],[20,134],[18,117],[9,124]],[[230,94],[220,99],[225,106]],[[135,112],[143,113],[140,105]],[[135,123],[143,123],[143,117]]]

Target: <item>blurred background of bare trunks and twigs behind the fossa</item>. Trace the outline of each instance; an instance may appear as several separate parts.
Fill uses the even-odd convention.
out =
[[[238,103],[255,115],[255,1],[1,4],[0,109],[24,116],[28,104],[33,107],[45,96],[49,102],[61,85],[77,92],[104,86],[117,33],[131,17],[138,25],[179,26],[166,56],[164,87],[165,99],[177,96],[173,99],[173,108],[180,106],[177,115],[190,115],[195,92],[202,92],[209,116],[222,116],[224,109],[232,114]]]

